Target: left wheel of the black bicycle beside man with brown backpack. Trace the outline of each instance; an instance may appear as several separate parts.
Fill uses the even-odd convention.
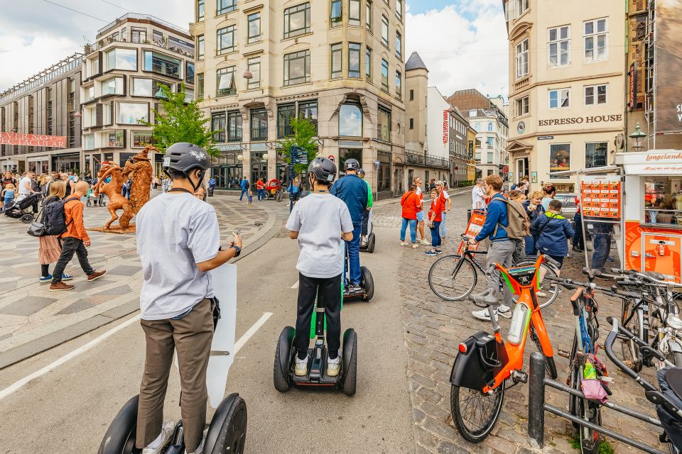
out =
[[[446,255],[428,270],[428,286],[445,301],[461,301],[474,291],[478,275],[469,258]]]

